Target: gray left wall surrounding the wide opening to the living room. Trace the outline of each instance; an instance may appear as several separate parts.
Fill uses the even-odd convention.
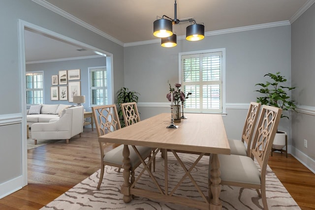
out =
[[[32,0],[1,0],[0,6],[0,198],[25,184],[22,177],[26,149],[26,106],[21,97],[19,25],[23,20],[78,40],[113,57],[114,91],[124,86],[124,47],[58,15]],[[18,145],[18,147],[17,147]],[[5,148],[6,152],[2,152]],[[10,152],[8,152],[10,151]],[[19,158],[18,158],[19,157]],[[5,174],[2,173],[5,171]]]

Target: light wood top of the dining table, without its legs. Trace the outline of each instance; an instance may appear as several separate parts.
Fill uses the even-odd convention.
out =
[[[163,113],[100,136],[100,142],[192,152],[230,154],[221,115],[185,114],[178,129],[167,129],[170,114]]]

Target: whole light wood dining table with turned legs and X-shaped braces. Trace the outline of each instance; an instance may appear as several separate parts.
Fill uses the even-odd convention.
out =
[[[154,117],[141,120],[140,122],[118,129],[114,132],[107,133],[98,137],[99,142],[116,143],[124,145],[122,154],[123,159],[123,177],[124,183],[121,186],[123,201],[129,203],[133,196],[146,197],[153,200],[166,201],[169,203],[185,205],[191,208],[201,210],[221,210],[220,201],[220,161],[218,154],[230,154],[230,147],[227,140],[223,120],[221,114],[205,114],[205,113],[185,113],[187,119],[182,119],[181,122],[175,123],[178,128],[167,128],[171,121],[170,113],[158,114]],[[130,183],[130,159],[129,148],[132,146],[138,154],[143,170],[138,175],[134,183]],[[145,162],[138,150],[137,146],[146,146],[154,149],[152,158]],[[164,173],[165,187],[158,185],[158,181],[154,178],[154,173],[151,170],[151,164],[158,152],[161,151],[164,156]],[[191,199],[189,197],[181,197],[174,195],[168,190],[168,170],[167,170],[167,152],[186,152],[199,154],[197,160],[192,164],[194,167],[201,157],[209,157],[211,164],[209,187],[209,196],[201,193],[201,200]],[[106,155],[106,154],[105,154]],[[183,163],[181,163],[183,165]],[[189,173],[191,168],[186,169],[186,177],[191,177]],[[145,173],[149,173],[150,177],[156,183],[157,191],[148,192],[146,189],[136,187],[135,182]],[[196,181],[191,179],[191,182],[196,185]],[[200,188],[197,191],[200,191]]]

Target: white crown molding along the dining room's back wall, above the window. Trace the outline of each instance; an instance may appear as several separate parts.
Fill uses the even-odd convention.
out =
[[[265,23],[265,24],[238,27],[238,28],[232,28],[232,29],[208,31],[208,32],[205,32],[205,36],[220,35],[220,34],[225,34],[225,33],[234,33],[234,32],[246,31],[246,30],[266,29],[266,28],[288,26],[288,25],[290,25],[289,21],[280,21],[280,22]],[[185,35],[177,36],[177,40],[180,40],[180,39],[186,39],[186,36]],[[159,42],[161,42],[160,39],[152,39],[152,40],[139,41],[139,42],[130,42],[130,43],[125,43],[124,47],[144,45],[144,44],[153,44],[153,43],[159,43]]]

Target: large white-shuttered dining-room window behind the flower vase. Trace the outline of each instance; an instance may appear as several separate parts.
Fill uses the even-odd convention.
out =
[[[182,90],[187,95],[186,112],[223,113],[224,49],[180,54]]]

